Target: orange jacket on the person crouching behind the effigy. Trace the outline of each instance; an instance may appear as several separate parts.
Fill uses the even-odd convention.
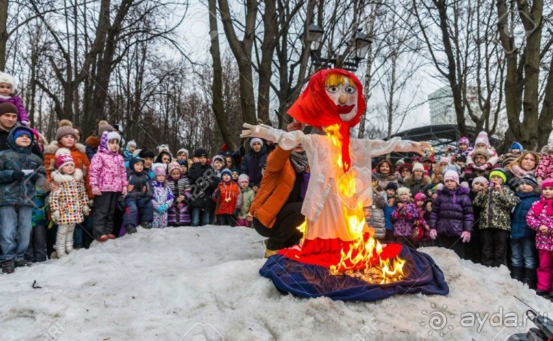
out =
[[[279,146],[267,156],[267,168],[249,213],[269,228],[275,224],[276,216],[288,200],[294,187],[296,173],[290,162],[292,150]]]

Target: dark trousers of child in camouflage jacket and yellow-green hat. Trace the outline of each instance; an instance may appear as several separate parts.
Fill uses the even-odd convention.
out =
[[[511,233],[500,228],[480,230],[482,239],[482,265],[507,266],[507,246]]]

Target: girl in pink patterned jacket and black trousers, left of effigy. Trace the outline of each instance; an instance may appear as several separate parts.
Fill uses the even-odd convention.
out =
[[[88,178],[94,194],[93,233],[99,242],[114,239],[113,217],[117,198],[127,195],[125,161],[119,154],[119,132],[103,132],[98,152],[90,161]]]

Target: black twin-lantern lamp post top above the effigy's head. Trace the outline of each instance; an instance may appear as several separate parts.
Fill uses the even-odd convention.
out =
[[[336,65],[342,65],[346,70],[356,71],[359,62],[367,56],[367,51],[369,51],[369,47],[372,43],[369,36],[362,33],[361,29],[358,29],[355,35],[355,56],[353,56],[353,58],[350,58],[350,60],[345,60],[347,56],[321,58],[321,56],[319,56],[319,49],[323,43],[323,34],[324,30],[319,25],[312,23],[309,25],[308,32],[305,35],[306,42],[311,46],[311,60],[317,67],[336,67]]]

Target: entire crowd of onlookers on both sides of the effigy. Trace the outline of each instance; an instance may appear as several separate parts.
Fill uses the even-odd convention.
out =
[[[208,157],[167,145],[156,153],[121,145],[106,121],[82,132],[62,120],[47,143],[28,128],[13,78],[0,73],[0,263],[18,266],[65,257],[93,239],[134,234],[138,226],[250,226],[271,145],[249,140],[243,156],[224,148]],[[16,124],[16,121],[19,124]],[[36,143],[35,143],[36,142]],[[42,149],[43,147],[43,149]],[[410,163],[380,160],[373,168],[367,224],[382,242],[450,248],[484,266],[509,266],[513,278],[553,297],[553,142],[540,151],[520,143],[498,155],[485,132],[471,147]]]

